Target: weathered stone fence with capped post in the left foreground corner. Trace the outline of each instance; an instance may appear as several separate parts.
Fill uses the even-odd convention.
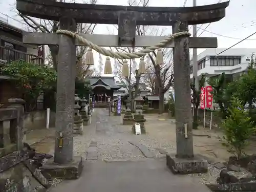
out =
[[[24,148],[24,101],[9,99],[10,105],[0,109],[0,191],[47,191],[48,181],[33,166],[31,151]],[[10,121],[9,126],[4,126]],[[33,151],[32,151],[33,153]]]

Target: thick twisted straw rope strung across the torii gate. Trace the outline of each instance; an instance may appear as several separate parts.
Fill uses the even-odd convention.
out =
[[[77,32],[72,32],[72,31],[68,31],[68,30],[58,30],[56,33],[77,38],[78,41],[82,42],[85,46],[90,47],[91,49],[97,51],[98,53],[101,53],[102,55],[109,56],[112,58],[118,58],[118,59],[140,58],[142,56],[145,56],[148,53],[155,51],[156,49],[163,48],[167,44],[167,42],[169,42],[177,37],[191,35],[188,31],[170,34],[168,37],[166,37],[164,40],[160,41],[158,44],[148,47],[146,49],[143,49],[139,52],[121,53],[121,52],[114,52],[111,50],[106,50],[105,48],[101,48],[101,47],[93,44],[91,41],[87,40],[86,38],[80,36]]]

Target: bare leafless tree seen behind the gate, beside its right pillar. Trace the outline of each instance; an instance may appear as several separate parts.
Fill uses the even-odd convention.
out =
[[[148,6],[150,0],[130,0],[128,2],[129,6]],[[140,36],[144,35],[162,35],[164,30],[161,28],[156,28],[152,26],[136,26],[136,34]],[[141,48],[140,48],[141,49]],[[142,48],[145,49],[145,48]],[[131,52],[135,50],[135,48],[116,48],[117,51],[121,52]],[[160,97],[160,113],[164,111],[164,94],[169,90],[170,87],[174,84],[174,76],[173,76],[173,61],[172,61],[172,50],[164,49],[164,60],[165,63],[163,65],[156,65],[155,58],[156,52],[149,54],[150,58],[150,66],[147,69],[147,73],[145,75],[139,74],[138,70],[135,70],[135,74],[133,75],[131,72],[132,62],[130,61],[130,76],[125,79],[120,76],[119,79],[124,82],[126,88],[129,92],[130,98],[132,98],[132,89],[135,88],[135,95],[139,94],[139,83],[140,79],[147,84],[148,87],[152,89],[153,94],[158,94]],[[120,62],[120,61],[119,61]],[[122,62],[120,62],[122,65]],[[133,75],[133,77],[132,77]],[[135,78],[135,83],[132,83],[131,80]],[[132,102],[133,103],[133,102]]]

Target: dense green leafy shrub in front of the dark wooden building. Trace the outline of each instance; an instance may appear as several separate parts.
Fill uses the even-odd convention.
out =
[[[26,111],[34,110],[38,96],[56,86],[57,73],[46,66],[16,60],[7,63],[1,71],[15,80],[18,92],[26,101]]]

